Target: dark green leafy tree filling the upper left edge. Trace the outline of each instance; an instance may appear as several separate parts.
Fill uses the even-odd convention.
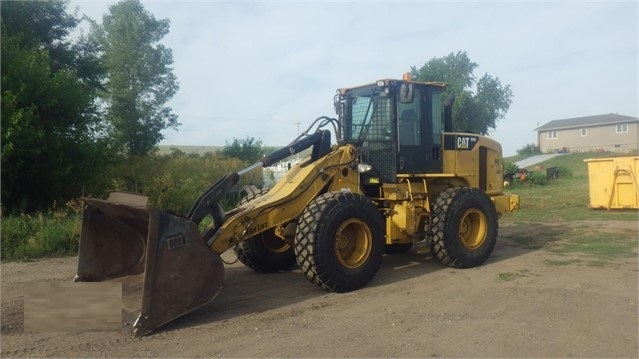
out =
[[[3,1],[2,205],[32,211],[92,191],[108,151],[95,103],[102,78],[66,1]]]

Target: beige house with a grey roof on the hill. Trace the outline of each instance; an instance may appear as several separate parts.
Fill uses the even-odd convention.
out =
[[[639,148],[639,119],[614,113],[552,120],[535,131],[537,145],[543,153],[626,153]]]

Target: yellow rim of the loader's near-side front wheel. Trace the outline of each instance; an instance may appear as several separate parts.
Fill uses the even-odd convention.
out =
[[[368,225],[351,218],[342,223],[335,235],[335,256],[346,268],[361,266],[371,253],[373,236]]]

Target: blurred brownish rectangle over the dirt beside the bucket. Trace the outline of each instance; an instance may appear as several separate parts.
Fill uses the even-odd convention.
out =
[[[44,282],[25,288],[25,332],[122,330],[122,283]]]

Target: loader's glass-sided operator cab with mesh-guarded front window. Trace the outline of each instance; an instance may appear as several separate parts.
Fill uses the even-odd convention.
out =
[[[339,89],[335,110],[345,143],[361,148],[364,185],[397,183],[397,174],[442,172],[440,82],[379,80]]]

